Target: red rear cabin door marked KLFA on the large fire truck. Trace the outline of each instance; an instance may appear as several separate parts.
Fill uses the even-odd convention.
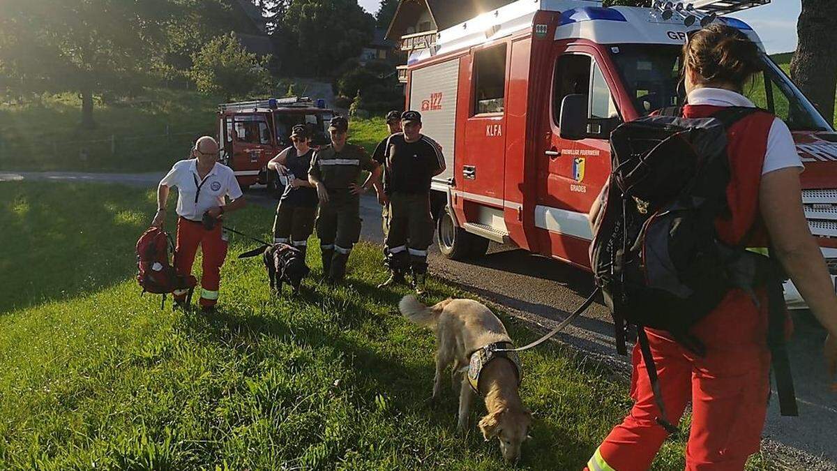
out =
[[[475,51],[471,68],[470,113],[465,120],[463,158],[454,172],[462,197],[503,210],[506,163],[506,44]],[[501,225],[493,213],[483,211],[473,222]],[[496,223],[496,224],[495,224]],[[505,230],[503,227],[497,229]]]

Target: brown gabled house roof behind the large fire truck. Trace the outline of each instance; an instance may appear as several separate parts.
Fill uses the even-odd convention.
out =
[[[441,31],[474,18],[480,13],[489,12],[511,3],[513,0],[401,0],[398,9],[389,23],[386,38],[400,39],[407,28],[414,26],[416,19],[430,11],[434,29]]]

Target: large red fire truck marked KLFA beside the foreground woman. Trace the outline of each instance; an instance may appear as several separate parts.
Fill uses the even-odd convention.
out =
[[[434,179],[439,248],[485,254],[489,241],[588,269],[587,213],[610,173],[620,122],[677,105],[686,33],[769,0],[603,8],[589,0],[519,0],[441,31],[408,59],[407,105],[444,148]],[[767,54],[749,90],[793,131],[806,170],[812,232],[837,274],[837,134]],[[563,106],[562,106],[563,105]],[[793,284],[788,305],[804,307]]]

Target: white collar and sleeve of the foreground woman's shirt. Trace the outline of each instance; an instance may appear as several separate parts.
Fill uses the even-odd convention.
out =
[[[699,88],[692,91],[689,94],[689,104],[756,107],[746,96],[722,88]],[[768,148],[764,154],[762,174],[789,167],[798,167],[800,172],[804,169],[788,125],[781,119],[776,118],[773,120],[773,126],[770,127],[770,133],[768,134]]]

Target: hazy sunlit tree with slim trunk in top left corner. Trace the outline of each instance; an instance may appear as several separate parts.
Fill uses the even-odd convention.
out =
[[[0,75],[23,91],[78,91],[83,127],[93,96],[136,84],[157,57],[170,0],[0,1]]]

